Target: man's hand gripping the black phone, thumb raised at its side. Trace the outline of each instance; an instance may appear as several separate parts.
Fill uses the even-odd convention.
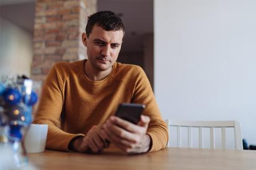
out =
[[[144,153],[151,145],[151,138],[146,134],[149,124],[148,116],[141,116],[138,125],[111,116],[103,125],[108,140],[126,153]]]

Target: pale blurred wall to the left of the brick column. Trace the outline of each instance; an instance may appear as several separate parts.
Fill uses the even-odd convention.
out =
[[[32,34],[0,18],[0,75],[30,76]]]

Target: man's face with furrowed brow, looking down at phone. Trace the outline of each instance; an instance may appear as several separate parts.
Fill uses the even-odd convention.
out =
[[[82,41],[87,47],[87,56],[90,66],[95,70],[105,71],[112,69],[117,61],[123,40],[123,30],[105,31],[94,25],[89,37],[84,33]]]

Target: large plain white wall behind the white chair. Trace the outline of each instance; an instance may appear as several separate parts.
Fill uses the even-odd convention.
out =
[[[256,144],[256,1],[154,1],[154,40],[163,117],[237,120]]]

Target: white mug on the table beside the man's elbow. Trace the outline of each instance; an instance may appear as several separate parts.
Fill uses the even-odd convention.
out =
[[[45,151],[48,124],[31,124],[25,136],[24,144],[27,153]]]

